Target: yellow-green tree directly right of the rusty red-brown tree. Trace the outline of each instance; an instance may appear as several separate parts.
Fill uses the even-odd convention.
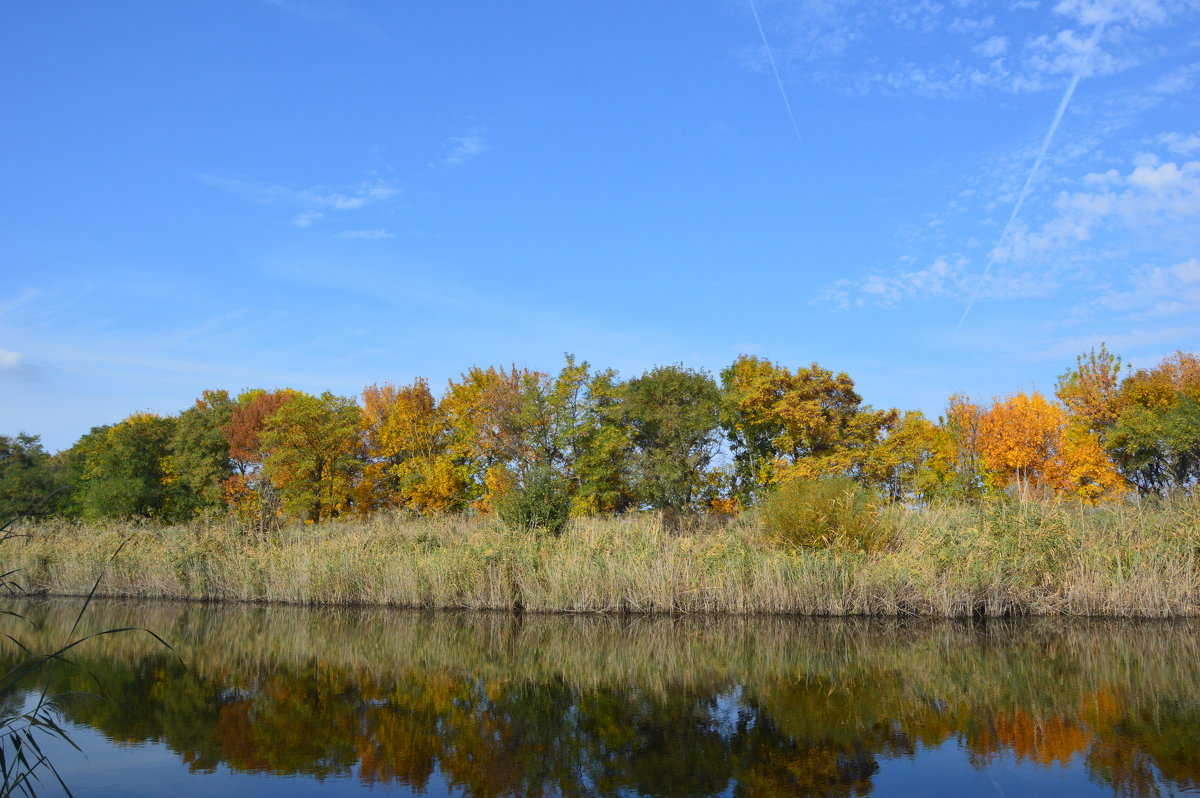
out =
[[[359,425],[354,400],[329,391],[295,394],[266,419],[263,470],[289,517],[328,521],[350,508],[361,467]]]

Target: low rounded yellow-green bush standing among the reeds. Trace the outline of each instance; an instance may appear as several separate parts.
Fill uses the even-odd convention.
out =
[[[872,551],[889,539],[878,500],[847,476],[793,479],[767,494],[758,516],[775,544]]]

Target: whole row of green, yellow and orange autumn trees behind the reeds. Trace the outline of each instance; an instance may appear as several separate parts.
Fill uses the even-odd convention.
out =
[[[472,367],[361,397],[204,391],[176,415],[134,413],[50,455],[0,436],[0,515],[179,521],[232,514],[259,528],[404,509],[490,514],[552,481],[574,515],[733,514],[774,485],[850,476],[892,502],[1097,503],[1200,481],[1200,358],[1136,371],[1105,347],[1052,396],[948,398],[936,420],[877,409],[817,364],[742,355],[716,377],[683,365],[630,379],[566,355],[557,373]],[[70,485],[46,499],[55,488]],[[43,500],[46,499],[46,500]]]

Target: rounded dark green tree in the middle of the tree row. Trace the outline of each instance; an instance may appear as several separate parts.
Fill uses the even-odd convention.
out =
[[[655,509],[695,508],[718,449],[716,383],[703,371],[658,366],[629,380],[623,409],[635,446],[635,496]]]

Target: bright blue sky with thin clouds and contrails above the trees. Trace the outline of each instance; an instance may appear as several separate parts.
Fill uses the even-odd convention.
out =
[[[49,449],[564,352],[936,415],[1200,348],[1200,0],[10,4],[0,68]]]

